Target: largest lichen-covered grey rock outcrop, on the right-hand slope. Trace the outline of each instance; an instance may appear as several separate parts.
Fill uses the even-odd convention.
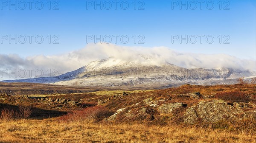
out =
[[[237,120],[236,115],[243,113],[240,107],[234,107],[223,100],[201,101],[189,107],[184,114],[185,123],[195,123],[201,118],[207,122],[217,122],[223,119]]]

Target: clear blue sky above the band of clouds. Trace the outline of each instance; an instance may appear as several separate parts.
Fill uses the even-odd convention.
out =
[[[134,1],[119,1],[117,9],[114,8],[113,1],[109,1],[112,7],[108,10],[108,5],[94,8],[89,6],[90,2],[86,0],[59,0],[49,3],[41,1],[44,6],[41,10],[40,3],[38,7],[32,3],[31,10],[29,4],[22,10],[23,3],[20,7],[17,2],[17,10],[15,6],[9,8],[8,5],[1,0],[0,11],[0,33],[1,40],[3,35],[42,35],[44,42],[37,44],[32,37],[32,43],[27,41],[24,44],[14,40],[9,43],[3,40],[1,43],[1,54],[18,54],[20,57],[33,55],[55,55],[63,54],[73,50],[84,48],[87,45],[87,35],[106,36],[106,35],[127,35],[129,42],[124,44],[117,40],[117,45],[125,46],[142,46],[155,47],[165,46],[180,52],[192,52],[203,54],[224,53],[236,56],[241,59],[256,59],[256,3],[255,0],[230,0],[221,1],[221,10],[219,1],[210,1],[214,3],[211,8],[209,1],[204,1],[202,10],[200,3],[193,10],[194,5],[191,1],[187,1],[188,10],[183,6],[174,6],[176,1],[172,0],[144,0],[136,1],[136,10],[134,10]],[[25,1],[26,2],[26,1]],[[100,3],[97,1],[96,3]],[[123,2],[123,7],[120,3]],[[208,7],[206,3],[208,2]],[[15,3],[12,1],[11,3]],[[48,4],[47,4],[48,3]],[[105,1],[102,1],[104,4]],[[125,4],[128,3],[128,9],[124,10]],[[186,1],[182,1],[186,3]],[[53,7],[58,6],[58,10]],[[108,3],[106,3],[108,4]],[[143,5],[143,6],[142,6]],[[142,6],[142,10],[138,8]],[[172,8],[172,6],[174,6]],[[229,10],[225,10],[229,8]],[[21,9],[20,9],[21,8]],[[51,38],[48,42],[48,35],[58,35]],[[134,35],[137,41],[134,44]],[[143,35],[138,38],[139,35]],[[205,35],[202,44],[198,41],[195,44],[183,40],[172,43],[172,35]],[[214,42],[208,44],[205,40],[207,35],[214,37]],[[219,43],[218,36],[221,35],[222,41]],[[224,37],[224,35],[227,35]],[[119,37],[120,37],[119,36]],[[58,44],[52,44],[57,39]],[[138,44],[138,40],[143,39],[144,44]],[[228,39],[230,44],[224,44],[224,40]],[[94,42],[91,40],[90,42]],[[89,42],[89,43],[90,43]],[[98,41],[99,42],[99,41]],[[103,41],[104,42],[104,41]],[[112,37],[113,43],[113,37]],[[87,56],[87,55],[85,55]]]

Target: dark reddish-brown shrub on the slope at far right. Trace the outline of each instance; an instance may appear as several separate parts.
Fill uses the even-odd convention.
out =
[[[226,101],[233,101],[233,102],[249,102],[250,96],[246,93],[242,92],[220,92],[215,95],[215,98],[223,99]]]

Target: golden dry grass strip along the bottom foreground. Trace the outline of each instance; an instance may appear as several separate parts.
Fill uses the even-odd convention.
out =
[[[143,124],[16,120],[0,122],[0,142],[12,143],[255,143],[255,135]]]

